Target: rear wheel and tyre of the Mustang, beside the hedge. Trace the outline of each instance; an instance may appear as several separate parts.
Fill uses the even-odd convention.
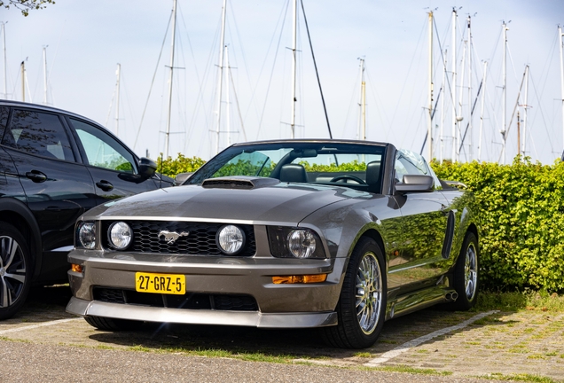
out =
[[[472,309],[478,300],[478,239],[468,231],[454,268],[454,288],[458,298],[453,309]]]

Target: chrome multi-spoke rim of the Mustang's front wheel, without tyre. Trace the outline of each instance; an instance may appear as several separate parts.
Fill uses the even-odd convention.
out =
[[[382,274],[380,263],[372,252],[364,254],[356,270],[356,318],[361,330],[371,334],[380,319]]]

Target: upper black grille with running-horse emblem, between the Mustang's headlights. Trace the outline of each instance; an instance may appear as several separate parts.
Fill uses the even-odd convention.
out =
[[[215,243],[215,235],[222,223],[188,223],[161,221],[126,221],[133,230],[133,244],[128,251],[157,254],[223,255]],[[107,232],[112,222],[103,223]],[[245,232],[245,248],[237,256],[253,256],[256,252],[253,225],[238,225]],[[168,243],[162,231],[187,233]],[[103,236],[104,246],[109,247],[107,236]]]

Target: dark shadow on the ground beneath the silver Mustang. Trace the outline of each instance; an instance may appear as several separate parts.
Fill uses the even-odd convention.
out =
[[[366,349],[332,348],[325,344],[319,329],[272,330],[253,327],[188,325],[188,324],[144,324],[135,331],[106,332],[97,331],[90,340],[104,344],[117,344],[129,348],[148,350],[166,349],[204,355],[223,352],[225,356],[260,355],[263,358],[284,359],[325,359],[341,360],[370,359],[390,351],[405,342],[417,339],[437,330],[460,324],[476,313],[425,309],[389,320],[384,324],[380,339]],[[481,320],[482,321],[482,320]],[[465,332],[469,328],[489,324],[504,324],[496,318],[472,324],[445,336]],[[506,324],[506,323],[505,323]],[[443,340],[444,336],[427,340],[427,344]]]

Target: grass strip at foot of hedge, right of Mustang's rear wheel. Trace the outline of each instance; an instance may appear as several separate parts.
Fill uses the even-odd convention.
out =
[[[564,295],[530,290],[513,293],[481,292],[474,310],[490,309],[564,312]]]

